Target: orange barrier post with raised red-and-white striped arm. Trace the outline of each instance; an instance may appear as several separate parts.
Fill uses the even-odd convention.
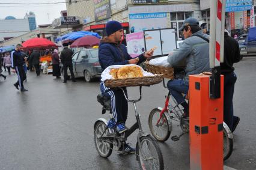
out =
[[[209,59],[212,76],[189,76],[190,169],[223,169],[225,0],[210,1]]]

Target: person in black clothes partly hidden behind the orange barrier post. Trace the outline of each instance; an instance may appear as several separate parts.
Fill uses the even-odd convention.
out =
[[[221,63],[221,74],[224,75],[224,122],[232,132],[240,121],[239,117],[234,116],[233,110],[234,85],[237,80],[233,64],[239,62],[240,59],[239,44],[225,31],[224,62]]]

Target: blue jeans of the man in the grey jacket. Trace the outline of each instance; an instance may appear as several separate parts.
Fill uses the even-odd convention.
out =
[[[183,79],[169,80],[167,83],[167,87],[171,95],[177,101],[177,103],[178,104],[181,103],[184,110],[188,111],[188,105],[184,97],[181,95],[181,93],[187,94],[187,91],[189,91],[189,87],[185,84],[184,80]]]

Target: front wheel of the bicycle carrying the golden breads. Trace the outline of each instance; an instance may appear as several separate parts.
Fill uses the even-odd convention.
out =
[[[139,156],[139,166],[141,169],[163,169],[163,156],[159,145],[151,136],[143,136],[140,139],[141,147],[136,145],[136,153]]]

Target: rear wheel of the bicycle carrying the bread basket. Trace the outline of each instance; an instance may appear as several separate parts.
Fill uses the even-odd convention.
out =
[[[94,126],[94,144],[100,156],[109,157],[113,151],[113,144],[109,144],[109,142],[105,142],[100,139],[101,136],[106,137],[110,134],[109,130],[105,129],[106,124],[103,121],[99,121]]]

